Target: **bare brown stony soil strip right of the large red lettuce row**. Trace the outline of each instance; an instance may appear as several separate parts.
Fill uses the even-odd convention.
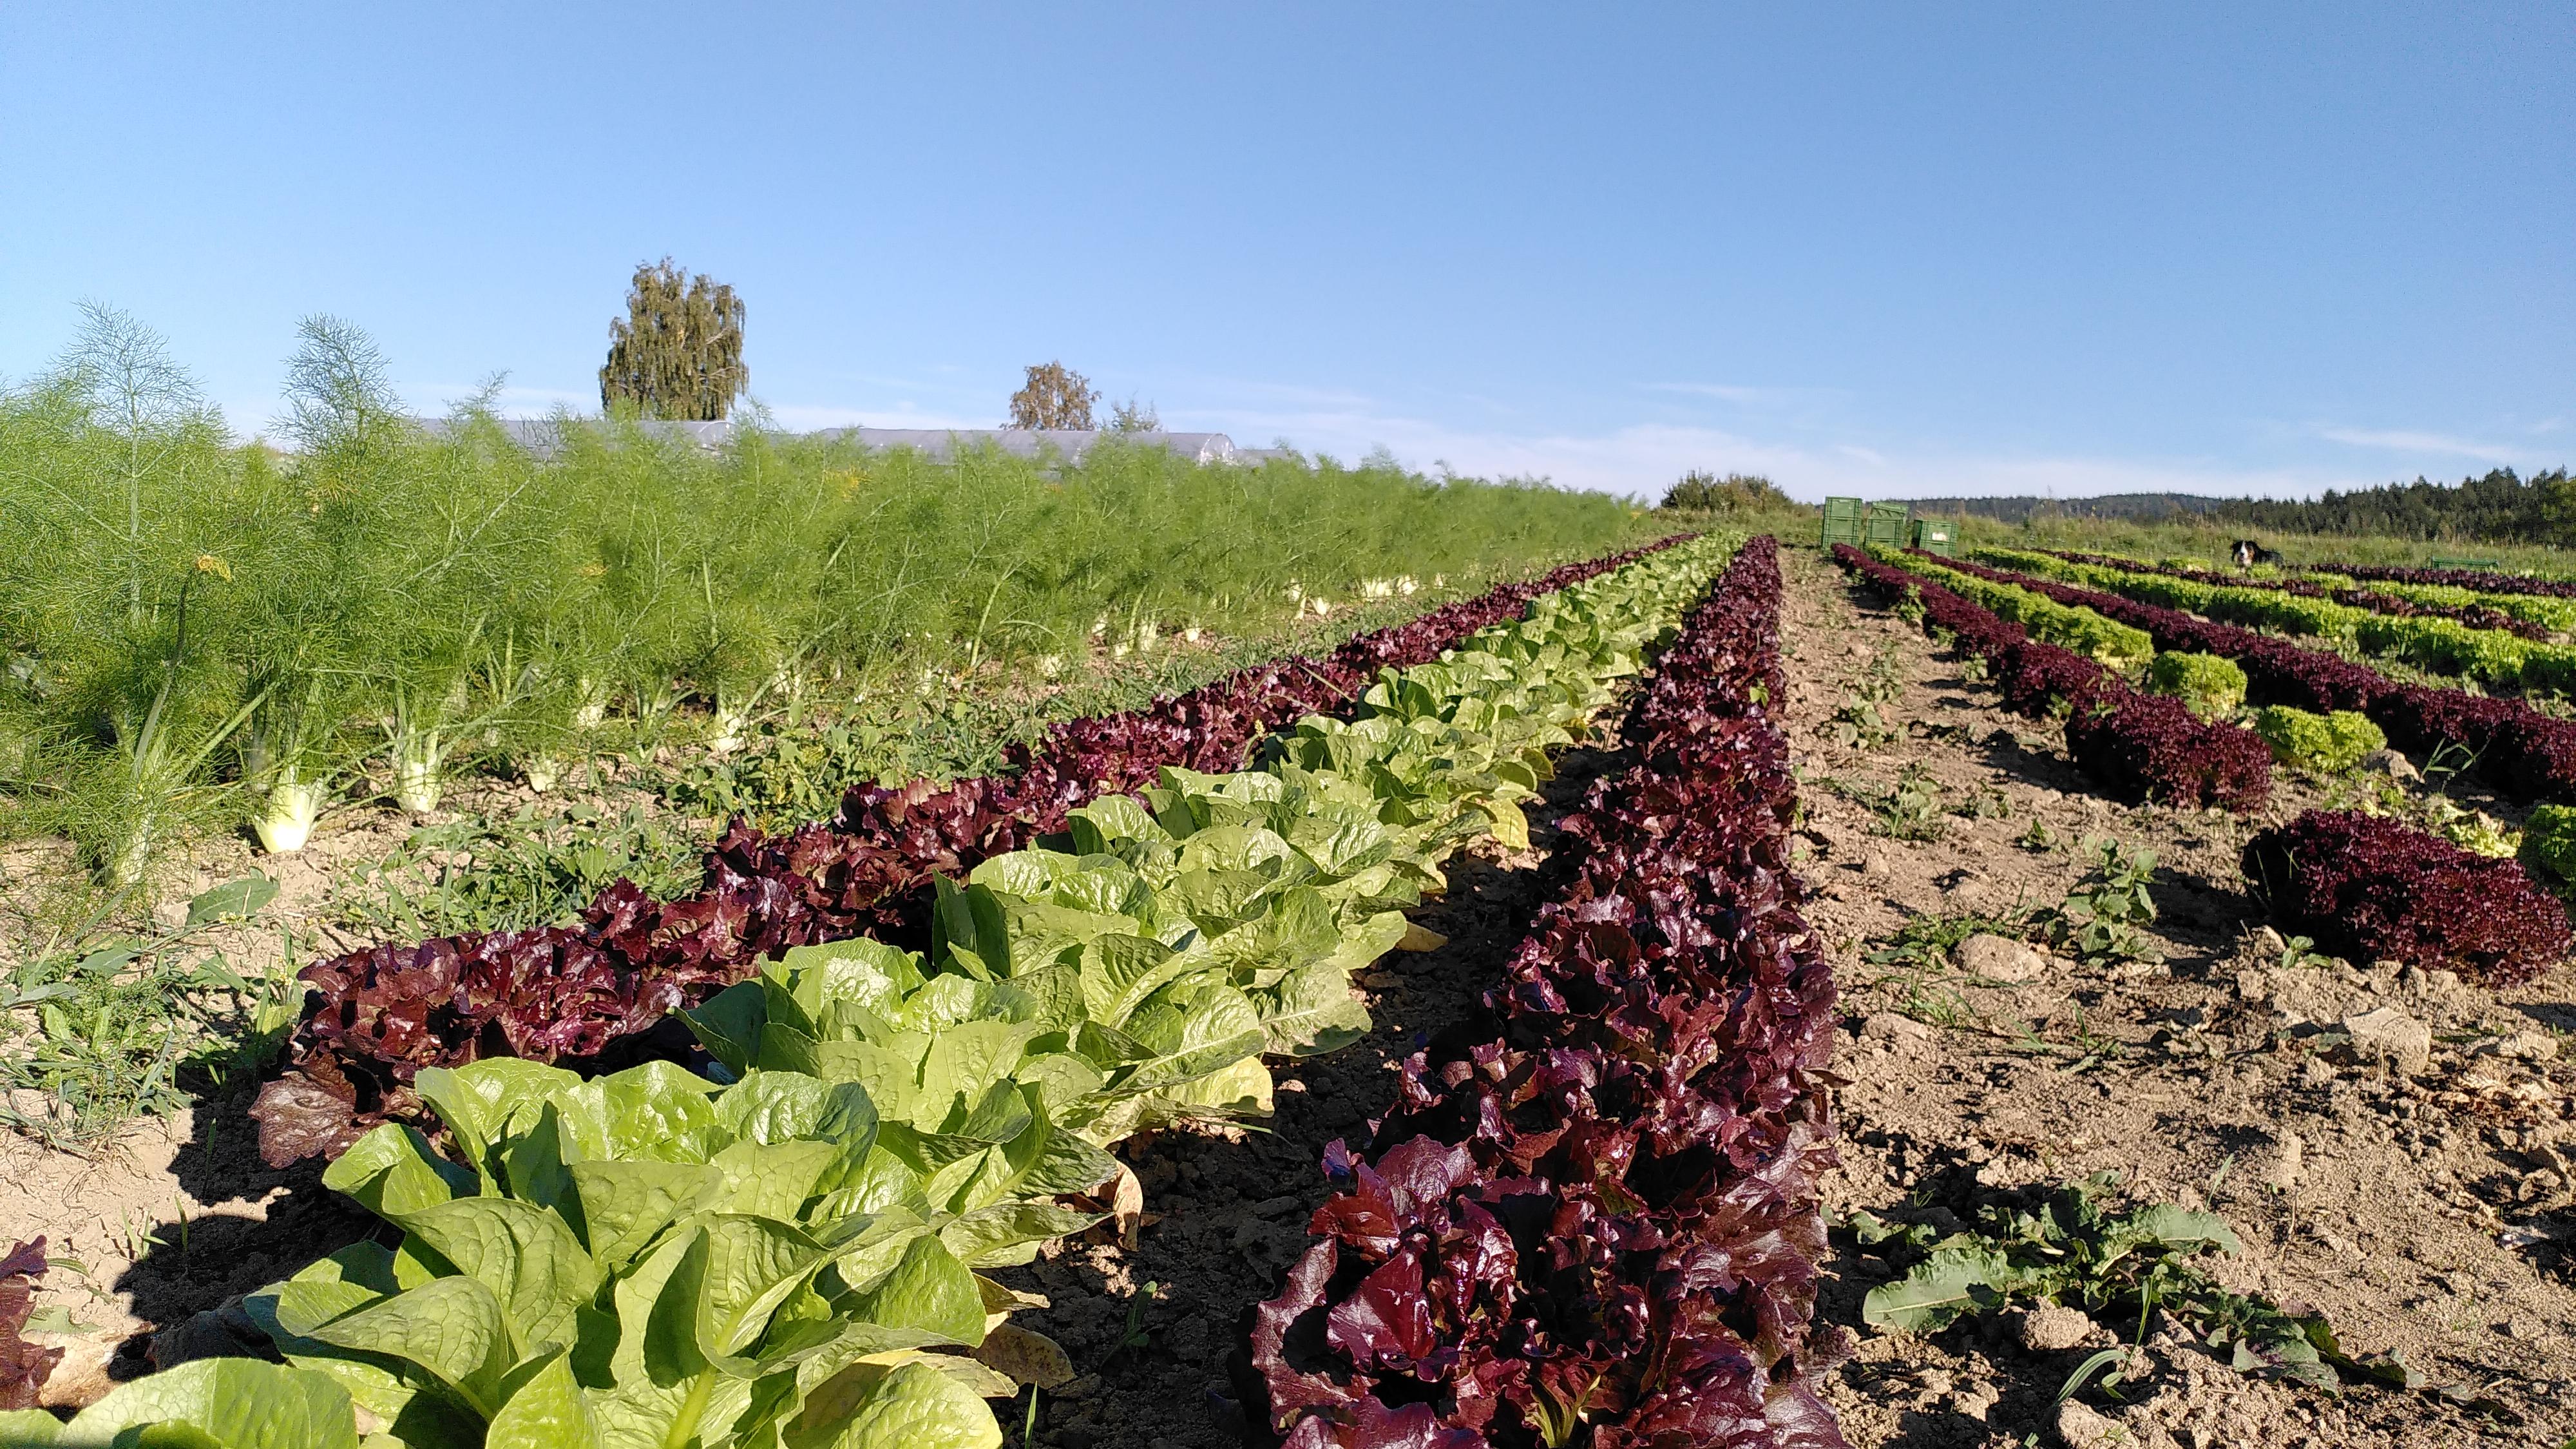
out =
[[[1816,552],[1788,549],[1783,565],[1788,727],[1814,781],[1801,833],[1808,918],[1834,951],[1847,1021],[1829,1214],[1953,1230],[2014,1189],[2115,1171],[2141,1201],[2213,1209],[2236,1227],[2244,1253],[2221,1269],[2231,1289],[2316,1307],[2347,1351],[2398,1351],[2432,1385],[2486,1400],[2463,1408],[2378,1385],[2326,1395],[2241,1377],[2200,1343],[2151,1333],[2154,1374],[2123,1385],[2125,1403],[2081,1395],[2089,1413],[2069,1413],[2061,1439],[2058,1387],[2112,1343],[2099,1325],[2053,1351],[2025,1341],[2053,1343],[2063,1333],[2048,1328],[2063,1325],[2025,1328],[2004,1312],[1935,1336],[1873,1330],[1860,1299],[1891,1266],[1837,1230],[1819,1315],[1857,1336],[1829,1395],[1855,1449],[2568,1441],[2576,1292],[2563,1243],[2576,1220],[2558,1152],[2576,1147],[2576,1073],[2558,1047],[2576,1029],[2576,972],[2491,993],[2393,964],[2282,969],[2277,938],[2257,936],[2236,859],[2259,825],[2321,804],[2313,789],[2285,776],[2262,820],[2107,804],[2087,794],[2056,730],[2004,714],[1991,686],[1935,657]],[[1819,727],[1880,650],[1904,678],[1888,717],[1909,730],[1842,748]],[[1950,815],[1937,841],[1873,833],[1855,794],[1886,792],[1909,766],[1947,807],[1984,794],[1991,812],[1999,792],[2009,815]],[[2020,846],[2032,820],[2061,846]],[[1888,967],[1865,964],[1865,951],[1914,915],[2061,902],[2084,869],[2066,846],[2087,833],[2161,856],[2164,964],[2048,959],[2017,985],[1968,985],[1963,972],[1873,982]],[[2375,1008],[2432,1026],[2424,1070],[2321,1049],[2321,1029]]]

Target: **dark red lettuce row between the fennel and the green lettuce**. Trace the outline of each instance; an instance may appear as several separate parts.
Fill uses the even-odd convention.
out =
[[[675,1006],[750,975],[765,957],[858,933],[925,938],[933,877],[1069,830],[1090,799],[1151,786],[1159,771],[1234,771],[1265,735],[1350,709],[1391,668],[1419,668],[1533,601],[1677,544],[1566,565],[1352,637],[1324,657],[1283,657],[1133,712],[1069,719],[1015,745],[994,776],[858,786],[829,822],[783,835],[734,822],[706,882],[649,900],[618,882],[577,926],[376,946],[304,969],[307,1011],[286,1070],[260,1091],[270,1165],[335,1155],[368,1124],[417,1109],[425,1067],[510,1055],[618,1065]],[[1553,619],[1553,614],[1551,614]]]

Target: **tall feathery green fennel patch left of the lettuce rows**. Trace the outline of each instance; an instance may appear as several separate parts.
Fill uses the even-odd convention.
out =
[[[0,394],[0,1122],[82,1147],[258,1075],[291,972],[683,897],[726,822],[1005,766],[1654,536],[1618,500],[1100,446],[935,464],[404,420],[314,338],[294,451],[106,317]],[[77,567],[67,567],[77,559]]]

